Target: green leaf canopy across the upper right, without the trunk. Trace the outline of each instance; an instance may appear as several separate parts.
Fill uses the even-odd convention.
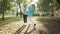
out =
[[[39,9],[51,11],[52,7],[54,7],[53,9],[55,9],[55,10],[59,10],[60,1],[59,0],[39,0],[39,2],[38,2]]]

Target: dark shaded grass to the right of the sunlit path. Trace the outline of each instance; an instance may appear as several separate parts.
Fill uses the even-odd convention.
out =
[[[49,34],[60,34],[60,17],[39,17],[37,21],[44,24]]]

